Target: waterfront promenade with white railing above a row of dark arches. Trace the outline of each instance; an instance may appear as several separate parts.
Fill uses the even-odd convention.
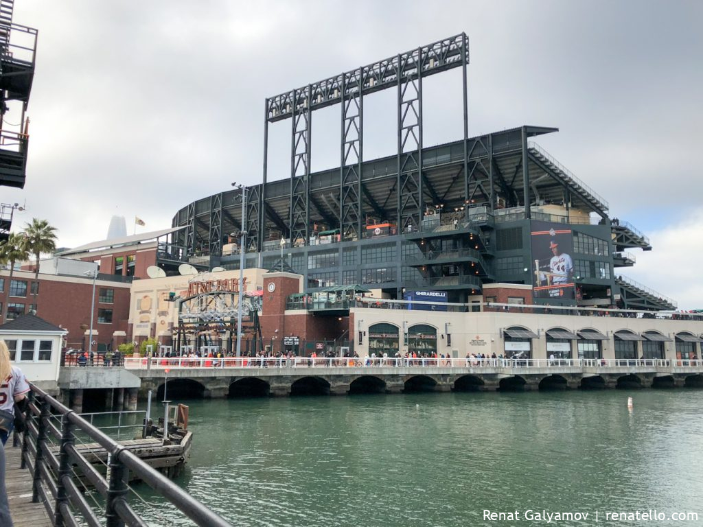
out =
[[[703,386],[702,360],[508,358],[129,358],[142,393],[190,384],[204,397],[231,393],[404,393]]]

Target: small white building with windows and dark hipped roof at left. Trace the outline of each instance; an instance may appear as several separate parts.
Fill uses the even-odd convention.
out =
[[[0,339],[10,350],[10,362],[41,389],[58,390],[58,369],[67,331],[36,315],[23,315],[0,325]]]

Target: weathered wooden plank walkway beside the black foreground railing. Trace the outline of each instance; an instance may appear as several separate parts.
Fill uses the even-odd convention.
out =
[[[13,448],[10,443],[5,447],[5,483],[12,521],[15,527],[51,527],[44,505],[32,503],[32,474],[29,469],[20,469],[22,449]]]

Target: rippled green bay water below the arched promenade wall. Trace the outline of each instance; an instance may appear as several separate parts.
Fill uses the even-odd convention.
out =
[[[183,402],[195,441],[176,482],[236,526],[703,525],[701,390]],[[191,525],[130,501],[151,525]],[[699,520],[605,520],[650,509]]]

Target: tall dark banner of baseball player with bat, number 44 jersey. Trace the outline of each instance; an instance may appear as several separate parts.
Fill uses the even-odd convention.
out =
[[[574,300],[574,234],[563,223],[531,221],[534,298]]]

